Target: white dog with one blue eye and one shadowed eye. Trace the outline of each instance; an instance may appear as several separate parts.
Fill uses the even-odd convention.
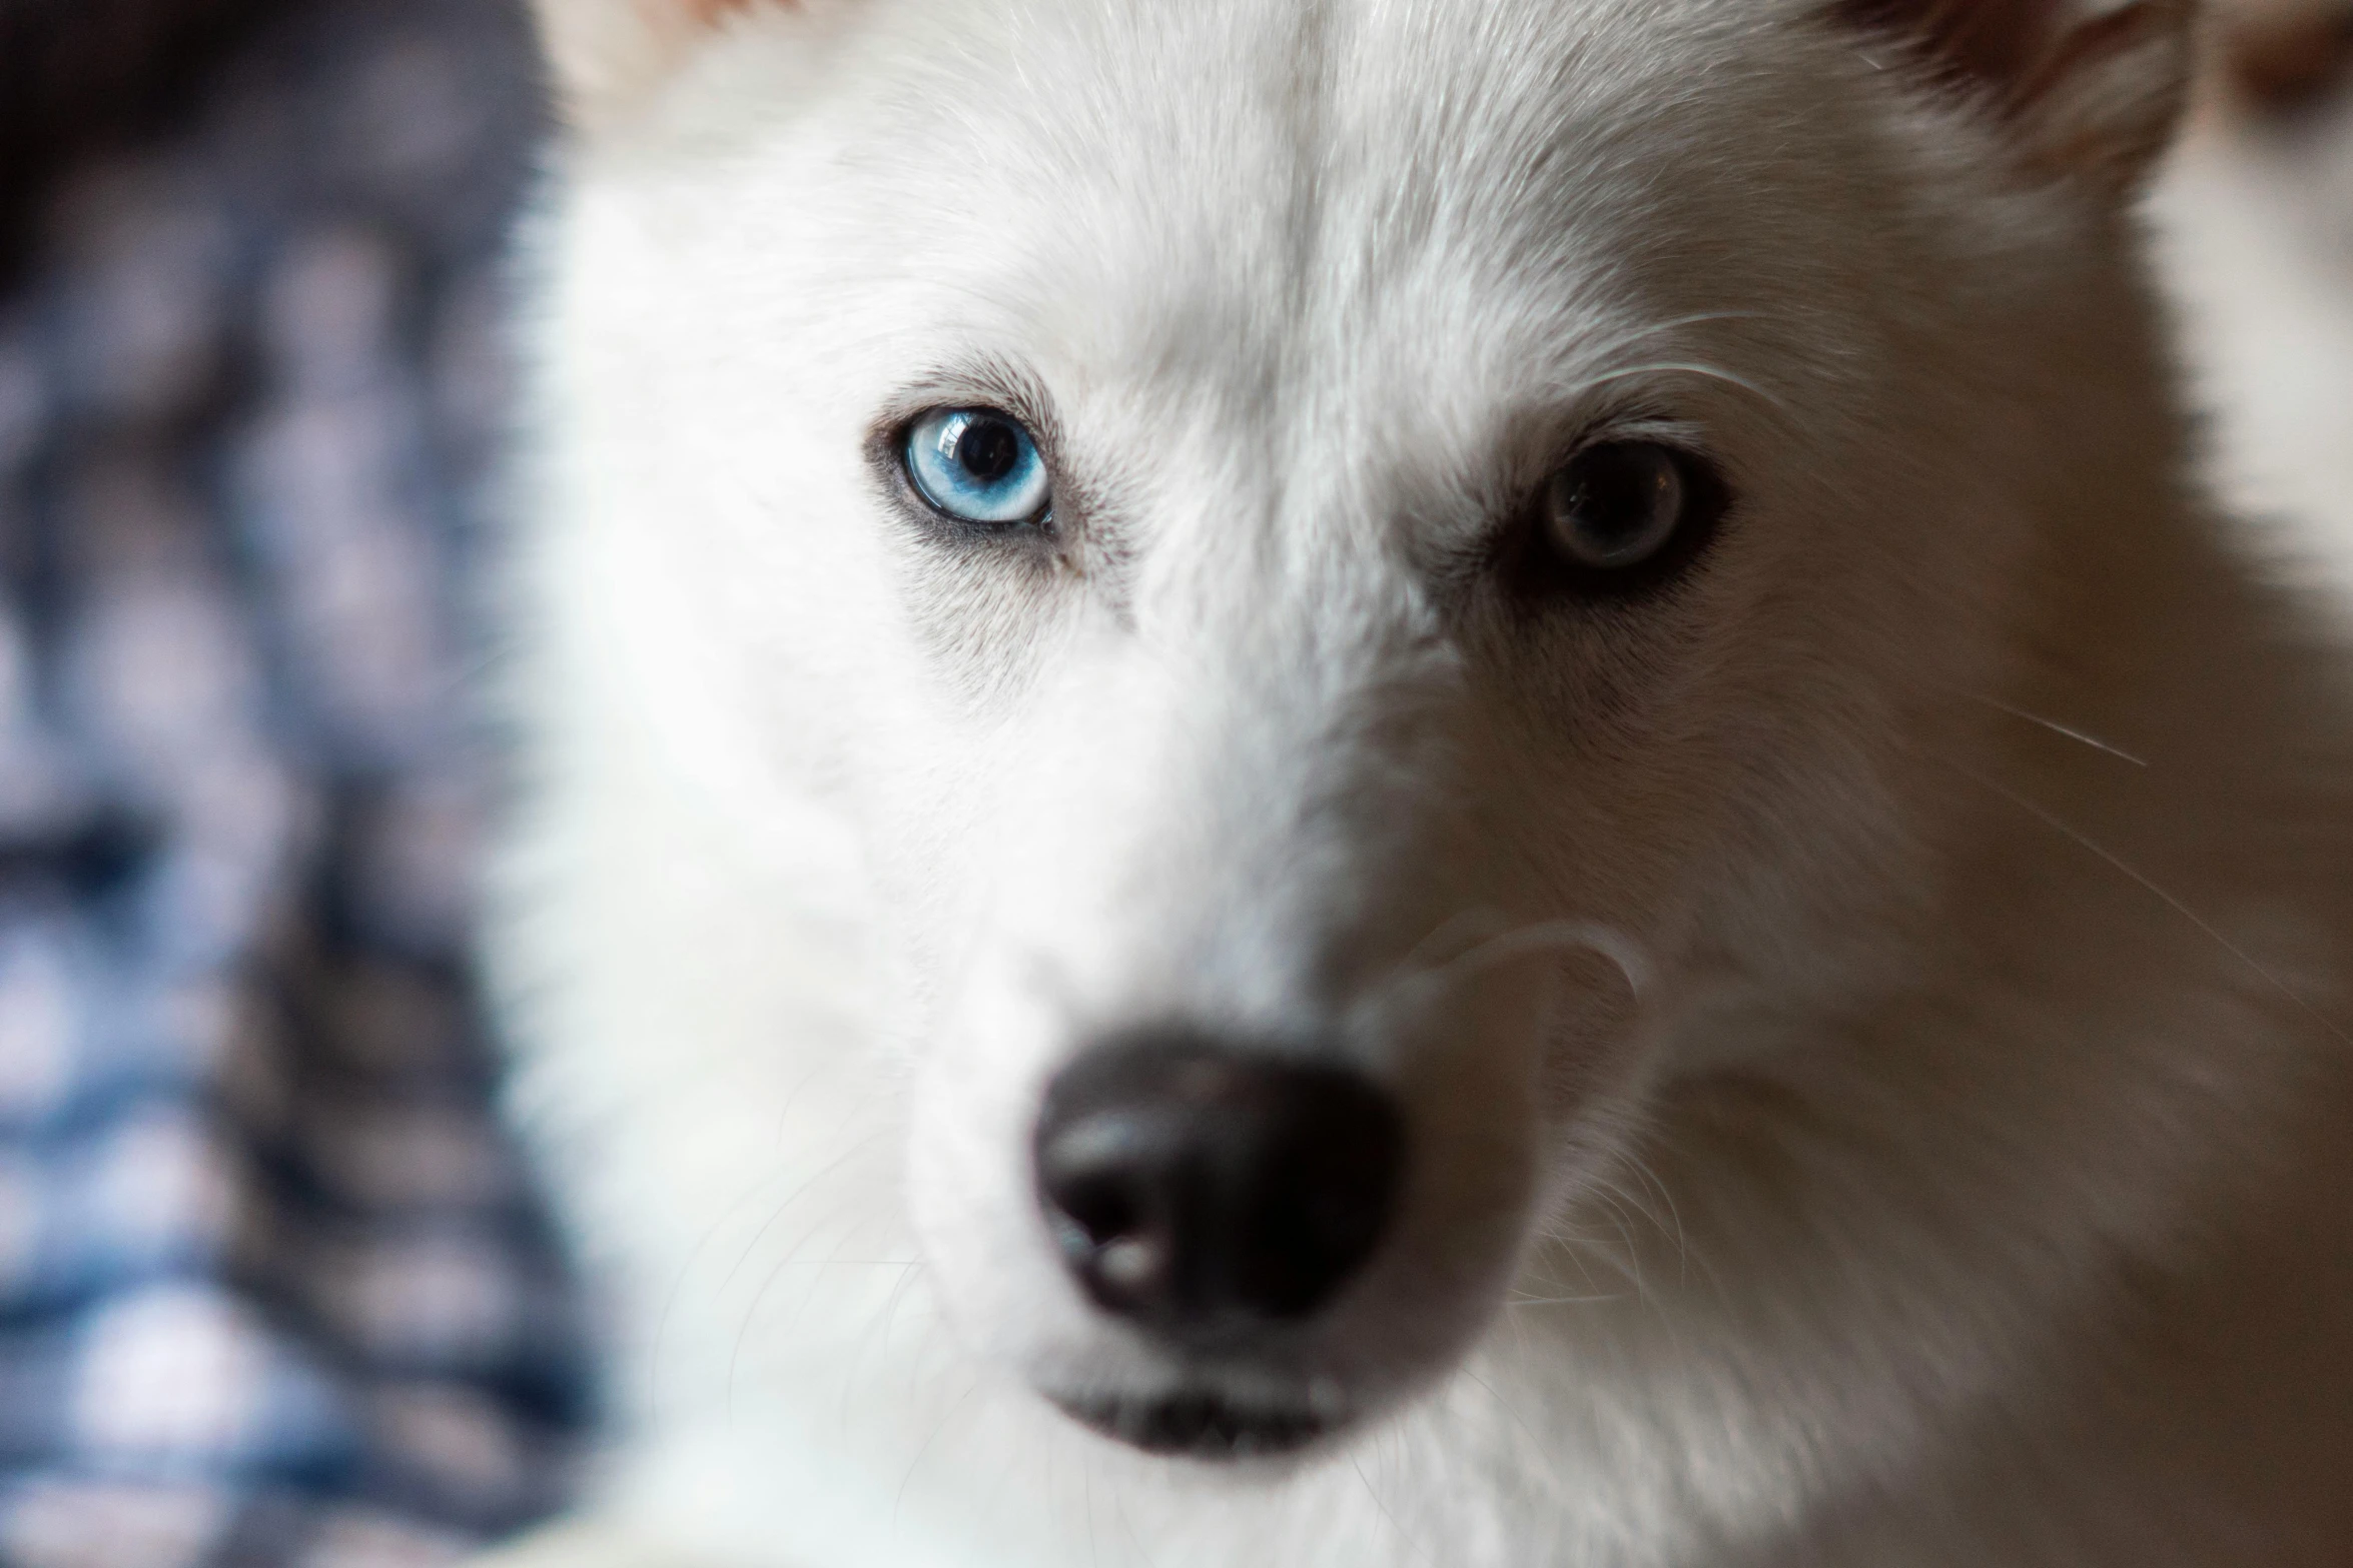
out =
[[[544,0],[520,1561],[2344,1568],[2188,0]]]

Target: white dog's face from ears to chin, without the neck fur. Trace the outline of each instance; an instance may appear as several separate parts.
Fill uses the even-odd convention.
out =
[[[1146,1448],[1358,1422],[1762,1048],[1701,978],[1901,964],[1920,750],[2146,428],[2179,73],[1969,14],[551,0],[569,442],[711,766],[871,856],[984,1354]]]

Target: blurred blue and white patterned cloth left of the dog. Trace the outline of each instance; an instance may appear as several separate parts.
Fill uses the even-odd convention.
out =
[[[320,0],[0,296],[0,1563],[438,1563],[579,1324],[489,1110],[454,590],[539,89]]]

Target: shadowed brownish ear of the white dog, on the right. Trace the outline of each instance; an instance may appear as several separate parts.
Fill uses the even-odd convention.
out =
[[[1998,113],[2026,165],[2125,190],[2188,96],[2195,0],[1835,0]]]

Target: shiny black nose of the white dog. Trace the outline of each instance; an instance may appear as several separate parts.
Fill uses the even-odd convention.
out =
[[[1362,1267],[1395,1206],[1405,1124],[1344,1067],[1129,1034],[1047,1086],[1035,1161],[1087,1295],[1198,1345],[1301,1319]]]

